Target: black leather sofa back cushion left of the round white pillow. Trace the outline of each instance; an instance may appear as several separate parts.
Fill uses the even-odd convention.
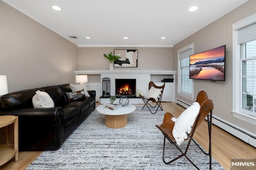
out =
[[[36,91],[42,91],[40,88],[27,89],[8,93],[1,96],[1,103],[4,109],[22,109],[33,108],[32,98],[36,94]]]

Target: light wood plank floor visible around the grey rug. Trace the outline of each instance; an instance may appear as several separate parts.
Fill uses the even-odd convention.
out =
[[[99,104],[99,103],[97,103]],[[178,117],[185,109],[176,103],[162,103],[164,111],[172,113]],[[157,114],[157,113],[156,113]],[[159,125],[161,122],[159,123]],[[194,139],[204,149],[208,149],[208,126],[204,121],[194,134]],[[24,170],[33,162],[43,151],[27,151],[19,152],[19,160],[17,162],[12,158],[6,164],[0,166],[0,170]],[[230,169],[231,159],[255,159],[256,148],[236,138],[232,134],[222,130],[221,128],[212,126],[212,156],[226,169]]]

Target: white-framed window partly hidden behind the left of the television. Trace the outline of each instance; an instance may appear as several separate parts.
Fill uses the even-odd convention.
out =
[[[193,81],[189,79],[189,56],[193,54],[193,43],[178,50],[178,94],[188,99],[193,97]]]

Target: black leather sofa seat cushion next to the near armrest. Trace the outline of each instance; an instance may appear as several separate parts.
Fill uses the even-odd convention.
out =
[[[75,107],[63,108],[64,111],[64,128],[70,126],[79,117],[79,109]]]

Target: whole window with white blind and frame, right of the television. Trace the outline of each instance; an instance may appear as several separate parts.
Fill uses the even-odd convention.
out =
[[[233,24],[232,113],[256,123],[256,14]]]

